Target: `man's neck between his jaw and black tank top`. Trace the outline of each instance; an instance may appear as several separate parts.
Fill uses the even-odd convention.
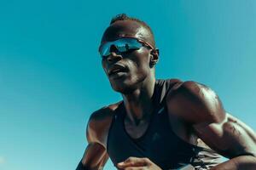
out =
[[[155,78],[150,77],[142,85],[131,92],[131,94],[122,94],[127,121],[138,124],[148,117],[153,111],[152,96],[154,94]]]

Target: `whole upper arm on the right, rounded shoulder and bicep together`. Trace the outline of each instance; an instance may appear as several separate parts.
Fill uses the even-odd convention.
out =
[[[213,150],[228,157],[256,156],[255,133],[226,114],[212,89],[196,82],[183,82],[166,99],[168,109],[188,122]]]

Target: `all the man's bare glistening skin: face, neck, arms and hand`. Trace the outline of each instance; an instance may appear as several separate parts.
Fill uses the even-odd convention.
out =
[[[116,21],[104,32],[102,42],[119,37],[140,37],[154,46],[154,38],[147,28],[132,20]],[[125,129],[132,138],[139,138],[148,127],[152,113],[154,92],[154,65],[158,51],[140,48],[127,54],[116,50],[102,59],[102,67],[113,90],[122,94],[126,116]],[[117,77],[108,71],[115,65],[125,68]],[[153,65],[153,66],[152,66]],[[86,128],[88,145],[82,165],[77,170],[102,169],[108,161],[107,139],[113,112],[120,102],[108,105],[91,116]],[[198,82],[182,82],[166,97],[169,122],[184,141],[201,147],[210,147],[230,158],[212,169],[256,169],[256,135],[250,127],[230,116],[212,89]],[[190,130],[188,130],[190,129]],[[193,130],[191,130],[193,129]],[[160,169],[148,158],[130,157],[118,164],[119,169]]]

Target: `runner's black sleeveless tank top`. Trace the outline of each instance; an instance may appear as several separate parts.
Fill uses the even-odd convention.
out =
[[[125,130],[125,105],[117,108],[108,132],[108,156],[114,166],[130,156],[148,157],[162,169],[178,169],[188,164],[195,169],[209,169],[220,162],[213,150],[189,144],[172,131],[167,115],[165,97],[180,81],[157,80],[154,86],[154,113],[148,129],[139,139],[132,139]]]

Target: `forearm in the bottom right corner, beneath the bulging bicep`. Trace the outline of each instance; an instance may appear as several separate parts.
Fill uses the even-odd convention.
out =
[[[216,167],[212,167],[211,170],[255,170],[256,169],[256,157],[254,156],[237,156],[229,161],[224,161],[218,164]]]

